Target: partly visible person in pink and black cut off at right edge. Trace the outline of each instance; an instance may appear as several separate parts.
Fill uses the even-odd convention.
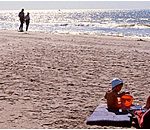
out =
[[[140,128],[150,129],[150,96],[147,98],[146,105],[143,110],[135,111]]]

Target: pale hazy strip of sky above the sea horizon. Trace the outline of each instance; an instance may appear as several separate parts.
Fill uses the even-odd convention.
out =
[[[0,1],[0,10],[150,9],[150,1]]]

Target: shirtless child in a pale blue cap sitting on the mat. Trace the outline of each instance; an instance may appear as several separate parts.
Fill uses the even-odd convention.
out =
[[[118,98],[125,95],[125,92],[119,93],[123,87],[123,81],[119,78],[114,78],[111,82],[112,89],[108,90],[105,94],[105,99],[107,99],[107,107],[110,110],[119,110],[121,108],[121,100],[118,103]]]

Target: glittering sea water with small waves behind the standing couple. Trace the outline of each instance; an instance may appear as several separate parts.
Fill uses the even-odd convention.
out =
[[[19,12],[20,10],[0,10],[0,29],[18,30]],[[29,31],[150,37],[150,10],[28,10],[28,12],[31,17]]]

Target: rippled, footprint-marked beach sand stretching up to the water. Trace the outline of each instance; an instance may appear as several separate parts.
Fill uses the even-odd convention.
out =
[[[144,105],[150,42],[0,31],[0,128],[116,128],[85,123],[114,77]]]

